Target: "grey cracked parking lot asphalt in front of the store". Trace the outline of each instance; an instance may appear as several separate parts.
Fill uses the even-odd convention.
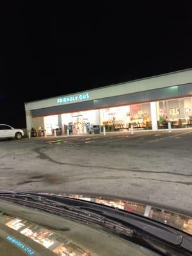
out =
[[[128,198],[192,215],[192,129],[0,141],[0,188]]]

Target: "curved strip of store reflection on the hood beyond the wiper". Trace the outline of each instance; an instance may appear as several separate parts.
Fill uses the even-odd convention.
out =
[[[192,235],[192,218],[190,218],[189,216],[184,216],[175,212],[165,211],[164,209],[159,209],[150,205],[138,204],[127,200],[74,194],[65,196],[89,202],[95,202],[97,204],[107,205],[109,207],[118,208],[127,212],[132,212],[134,214],[138,214],[147,218],[151,218],[152,220],[159,221]]]

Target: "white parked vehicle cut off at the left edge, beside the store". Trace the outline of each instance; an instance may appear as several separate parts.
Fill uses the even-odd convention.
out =
[[[20,140],[24,136],[22,129],[14,129],[7,124],[0,124],[0,138],[16,138]]]

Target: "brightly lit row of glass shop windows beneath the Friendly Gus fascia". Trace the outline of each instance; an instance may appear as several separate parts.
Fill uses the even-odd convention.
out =
[[[67,134],[67,129],[70,134],[89,134],[94,125],[100,125],[100,131],[105,126],[106,132],[128,131],[131,124],[136,130],[168,129],[168,121],[172,122],[172,128],[191,127],[192,97],[44,117],[48,135],[54,134],[57,128],[61,128],[64,134]]]

